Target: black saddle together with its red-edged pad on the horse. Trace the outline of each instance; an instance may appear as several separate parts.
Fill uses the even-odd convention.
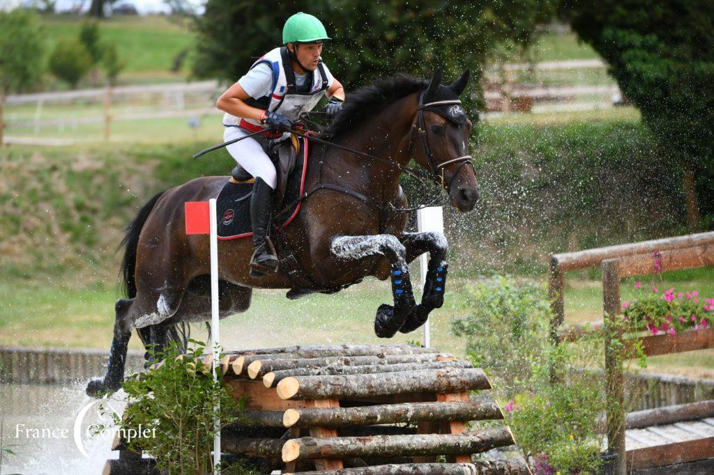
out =
[[[304,193],[305,175],[307,169],[308,143],[305,139],[291,136],[289,141],[268,143],[260,141],[263,150],[271,158],[276,168],[278,183],[273,193],[273,216],[286,215],[288,218],[282,225],[286,227],[298,213],[301,203],[297,203],[292,213],[283,210],[283,207],[292,203]],[[299,157],[299,159],[298,159]],[[218,221],[218,239],[231,240],[253,235],[251,231],[251,191],[253,190],[253,177],[236,166],[231,172],[231,177],[226,179],[218,197],[216,198],[216,218]]]

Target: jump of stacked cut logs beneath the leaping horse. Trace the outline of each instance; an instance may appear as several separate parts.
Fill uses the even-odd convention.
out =
[[[472,458],[513,446],[513,434],[505,425],[467,428],[469,421],[503,419],[496,402],[468,398],[491,383],[481,369],[433,348],[255,349],[227,354],[219,370],[233,397],[245,398],[244,415],[260,434],[224,429],[228,457],[260,457],[271,470],[294,475],[531,473],[520,458]],[[104,474],[158,473],[121,439],[112,449],[119,459],[108,460]]]

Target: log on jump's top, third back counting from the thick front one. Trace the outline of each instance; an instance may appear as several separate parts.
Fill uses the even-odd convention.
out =
[[[365,355],[358,357],[334,356],[298,359],[258,359],[248,365],[247,374],[251,379],[263,377],[269,372],[283,369],[326,366],[366,366],[373,364],[401,364],[418,362],[453,361],[456,358],[448,353],[422,354],[386,354]]]

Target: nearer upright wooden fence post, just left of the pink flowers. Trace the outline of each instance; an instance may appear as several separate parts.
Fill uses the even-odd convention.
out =
[[[608,454],[615,454],[613,474],[625,475],[625,394],[620,315],[620,260],[603,260],[605,384],[607,384]]]

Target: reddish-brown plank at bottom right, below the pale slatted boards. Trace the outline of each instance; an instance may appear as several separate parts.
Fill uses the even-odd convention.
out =
[[[714,457],[714,437],[628,451],[627,466],[630,470],[647,469],[655,466],[683,464],[711,457]]]

